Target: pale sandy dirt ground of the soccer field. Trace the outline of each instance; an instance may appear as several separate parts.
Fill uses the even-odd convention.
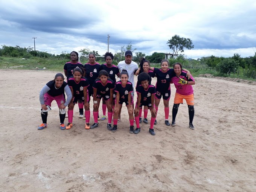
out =
[[[161,101],[155,136],[145,123],[129,133],[125,107],[115,133],[107,120],[85,130],[77,105],[73,128],[62,131],[55,102],[48,127],[38,131],[39,91],[56,72],[0,73],[0,191],[256,191],[255,85],[195,78],[195,130],[186,104],[177,126],[166,126]]]

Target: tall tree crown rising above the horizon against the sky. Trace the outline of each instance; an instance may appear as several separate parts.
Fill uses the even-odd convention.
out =
[[[175,54],[178,54],[179,51],[181,53],[184,52],[184,48],[189,50],[194,48],[194,45],[189,38],[180,37],[179,35],[172,36],[166,44],[168,44]]]

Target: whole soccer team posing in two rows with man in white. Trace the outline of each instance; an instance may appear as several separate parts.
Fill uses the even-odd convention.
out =
[[[189,110],[189,128],[194,130],[194,91],[192,85],[195,85],[195,80],[190,75],[190,72],[183,69],[182,64],[179,62],[173,65],[173,69],[170,69],[169,61],[166,59],[162,60],[161,68],[158,69],[150,67],[150,62],[145,58],[141,58],[138,68],[136,65],[134,67],[134,62],[131,61],[131,58],[132,52],[126,51],[125,61],[122,61],[122,67],[119,67],[119,65],[112,64],[113,54],[106,52],[104,55],[106,63],[100,65],[96,62],[94,53],[90,53],[88,55],[89,61],[83,65],[78,62],[78,53],[72,51],[70,53],[70,61],[64,65],[64,74],[67,77],[67,82],[64,81],[62,73],[57,73],[55,78],[47,82],[40,91],[42,124],[37,129],[43,130],[47,127],[48,111],[51,110],[51,103],[55,100],[59,108],[59,126],[61,130],[69,130],[73,127],[73,108],[75,104],[78,104],[79,118],[85,119],[85,129],[94,129],[99,126],[98,120],[108,119],[107,129],[115,132],[117,131],[117,123],[120,121],[122,104],[125,103],[129,115],[130,133],[138,134],[140,132],[142,107],[144,106],[143,122],[149,123],[147,118],[149,109],[151,113],[149,133],[155,135],[154,125],[157,124],[158,105],[163,97],[165,125],[176,125],[175,119],[178,108],[180,104],[183,104],[183,99],[185,99]],[[132,78],[134,74],[138,75],[135,108],[134,85],[128,81],[128,79],[131,79],[129,74]],[[120,78],[120,81],[116,81],[116,76]],[[157,83],[154,86],[151,84],[151,79],[155,76]],[[172,122],[169,123],[171,83],[175,85],[176,93],[172,107]],[[90,124],[91,96],[93,97],[94,122]],[[101,99],[103,116],[99,118]],[[68,109],[67,116],[66,107]],[[107,116],[106,110],[108,111]],[[64,125],[65,117],[68,117],[67,126]],[[111,121],[113,121],[113,126]],[[136,122],[135,129],[134,121]]]

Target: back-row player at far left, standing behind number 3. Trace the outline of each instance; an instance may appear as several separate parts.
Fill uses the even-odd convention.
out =
[[[76,67],[84,67],[84,66],[83,64],[78,62],[78,52],[72,51],[70,53],[70,61],[64,65],[64,73],[67,79],[73,75],[73,69],[75,69]],[[78,107],[79,107],[79,118],[83,118],[84,106],[81,103],[81,101],[78,101]]]

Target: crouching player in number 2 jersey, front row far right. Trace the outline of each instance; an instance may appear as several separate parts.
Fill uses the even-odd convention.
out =
[[[157,111],[154,107],[155,98],[154,95],[156,93],[155,86],[149,84],[150,76],[148,73],[142,72],[138,76],[138,81],[140,82],[140,85],[136,87],[137,92],[137,103],[134,110],[134,116],[136,121],[136,130],[134,131],[135,134],[138,134],[140,132],[140,122],[139,122],[139,111],[142,106],[148,106],[150,112],[151,112],[151,121],[150,121],[150,128],[149,133],[151,135],[155,135],[154,132],[154,122],[155,117],[157,114]]]

